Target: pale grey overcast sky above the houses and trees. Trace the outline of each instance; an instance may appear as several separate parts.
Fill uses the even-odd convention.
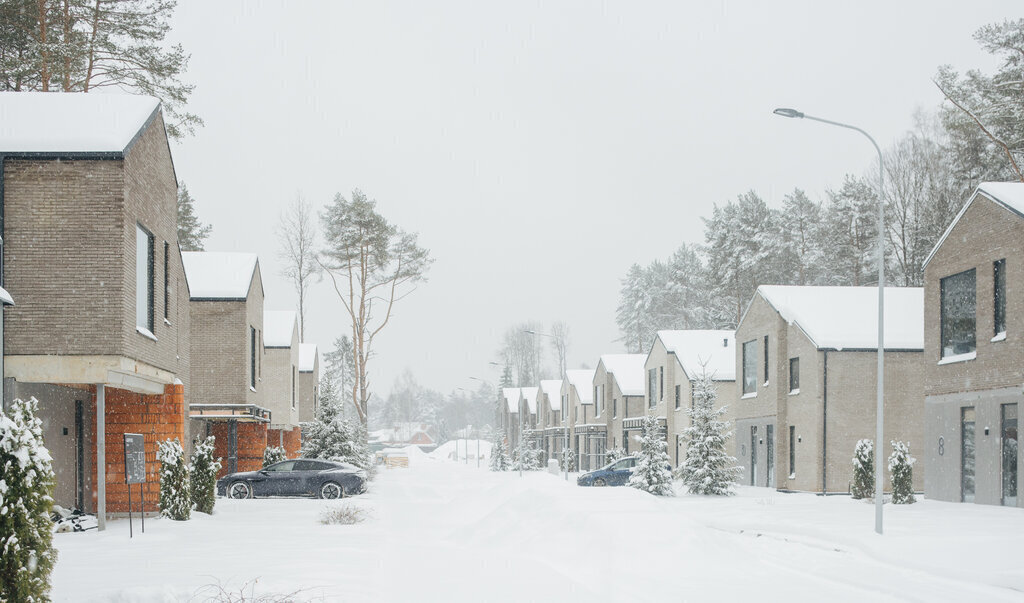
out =
[[[690,4],[182,0],[171,38],[206,126],[172,149],[207,249],[257,252],[267,309],[294,308],[282,208],[358,187],[436,260],[379,338],[377,393],[407,368],[444,392],[495,382],[502,334],[528,319],[566,320],[569,368],[595,367],[623,351],[626,270],[702,243],[714,204],[820,199],[869,167],[857,134],[774,107],[885,146],[938,105],[940,64],[991,71],[978,27],[1019,16],[1011,1]],[[306,340],[328,348],[343,312],[316,285]]]

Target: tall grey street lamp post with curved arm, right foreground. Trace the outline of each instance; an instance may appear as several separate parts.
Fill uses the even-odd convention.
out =
[[[853,130],[855,132],[860,132],[865,138],[870,140],[871,145],[874,146],[874,150],[879,154],[879,240],[878,240],[878,262],[879,262],[879,367],[878,367],[878,383],[876,384],[876,442],[874,442],[874,531],[882,533],[882,437],[883,437],[883,419],[885,418],[885,411],[883,410],[883,397],[884,397],[884,386],[885,386],[885,299],[886,299],[886,264],[885,264],[885,204],[883,201],[883,170],[884,163],[882,159],[882,149],[879,148],[878,142],[871,135],[867,132],[861,130],[856,126],[851,126],[849,124],[844,124],[841,122],[834,122],[831,120],[825,120],[822,118],[816,118],[799,112],[795,109],[776,109],[773,112],[777,116],[782,116],[784,118],[796,118],[796,119],[806,119],[815,122],[821,122],[822,124],[828,124],[830,126],[838,126],[840,128],[846,128],[848,130]]]

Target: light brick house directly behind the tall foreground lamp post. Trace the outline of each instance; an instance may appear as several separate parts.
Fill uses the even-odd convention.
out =
[[[886,288],[885,310],[883,459],[891,440],[911,453],[924,444],[924,290]],[[732,453],[741,483],[849,491],[854,447],[876,434],[877,346],[876,288],[758,288],[736,329]],[[922,469],[919,461],[918,489]]]

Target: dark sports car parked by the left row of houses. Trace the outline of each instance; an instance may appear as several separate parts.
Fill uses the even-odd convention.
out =
[[[231,473],[217,480],[217,493],[228,499],[319,497],[341,499],[367,491],[367,472],[348,463],[296,459],[260,469]]]

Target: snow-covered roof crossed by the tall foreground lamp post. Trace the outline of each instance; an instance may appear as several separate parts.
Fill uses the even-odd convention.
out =
[[[761,295],[818,349],[878,347],[879,290],[874,287],[762,285]],[[925,290],[887,287],[886,349],[925,349]],[[740,320],[742,322],[742,320]]]

